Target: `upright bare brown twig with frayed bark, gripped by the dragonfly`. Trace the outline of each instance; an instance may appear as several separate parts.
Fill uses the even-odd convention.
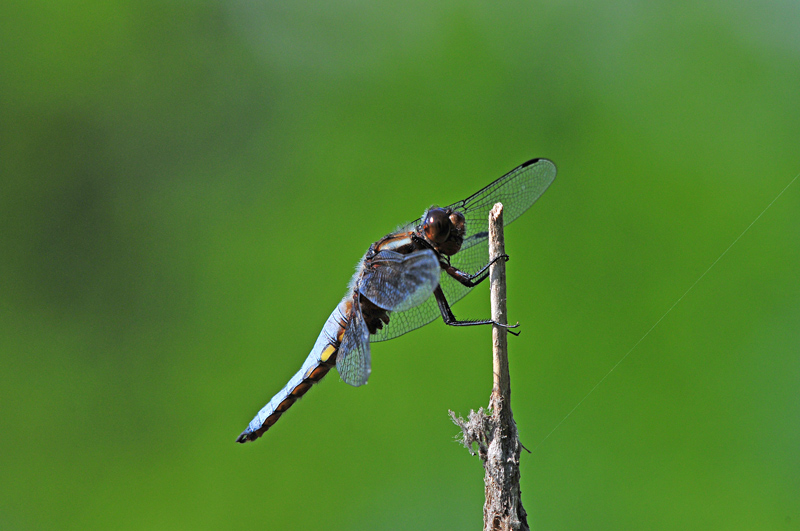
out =
[[[503,239],[503,205],[498,203],[489,213],[489,258],[505,254]],[[506,264],[495,262],[489,273],[491,282],[492,320],[506,324]],[[522,507],[519,488],[519,454],[522,444],[511,413],[511,378],[508,372],[507,331],[492,326],[494,385],[489,398],[491,415],[470,411],[464,420],[450,412],[463,432],[462,442],[473,453],[478,446],[483,461],[486,501],[483,506],[484,531],[528,531],[528,519]]]

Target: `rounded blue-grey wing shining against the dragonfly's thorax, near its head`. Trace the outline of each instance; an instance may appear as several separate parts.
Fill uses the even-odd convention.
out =
[[[430,298],[440,276],[439,259],[429,249],[405,255],[381,251],[369,261],[359,291],[381,308],[402,312]]]

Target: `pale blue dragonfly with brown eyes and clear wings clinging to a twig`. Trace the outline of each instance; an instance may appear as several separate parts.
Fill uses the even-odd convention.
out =
[[[254,441],[336,367],[345,383],[370,375],[370,344],[393,339],[439,316],[451,326],[503,325],[491,319],[458,320],[451,305],[486,280],[489,211],[503,203],[508,225],[556,177],[548,159],[514,168],[479,192],[447,207],[431,206],[419,219],[373,243],[356,267],[344,298],[331,313],[303,366],[253,418],[236,442]]]

